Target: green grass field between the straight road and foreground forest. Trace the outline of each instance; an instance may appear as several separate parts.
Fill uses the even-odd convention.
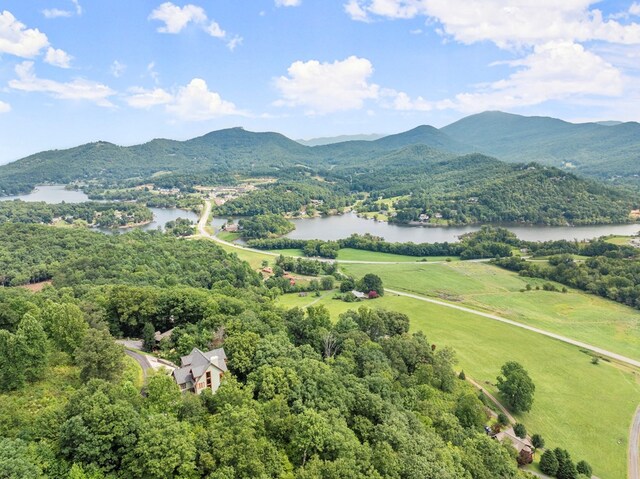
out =
[[[497,321],[400,296],[364,303],[344,303],[325,295],[315,304],[327,306],[333,318],[362,305],[402,311],[411,329],[422,330],[438,347],[456,350],[465,373],[489,390],[500,366],[515,360],[536,384],[533,409],[517,416],[530,433],[541,434],[548,447],[566,448],[575,461],[587,460],[602,478],[626,477],[631,418],[640,401],[638,373],[606,362],[595,366],[578,348]],[[317,298],[285,295],[286,307],[304,306]]]

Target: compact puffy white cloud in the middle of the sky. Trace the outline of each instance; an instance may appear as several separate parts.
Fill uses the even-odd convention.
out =
[[[302,106],[308,114],[356,110],[365,100],[378,98],[379,86],[368,82],[373,65],[366,58],[351,56],[333,63],[297,61],[287,73],[288,77],[275,80],[282,96],[276,105]]]

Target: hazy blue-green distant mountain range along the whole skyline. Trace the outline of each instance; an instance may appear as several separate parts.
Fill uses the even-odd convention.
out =
[[[156,139],[131,147],[89,143],[0,166],[0,194],[22,193],[43,182],[147,179],[159,173],[279,176],[298,167],[359,168],[385,157],[393,162],[419,159],[415,150],[409,150],[411,154],[402,160],[404,149],[416,145],[451,157],[481,153],[505,162],[535,161],[581,175],[640,184],[640,124],[635,122],[574,124],[485,112],[441,129],[423,125],[376,139],[342,139],[346,138],[310,140],[316,146],[306,146],[278,133],[231,128],[187,141]]]

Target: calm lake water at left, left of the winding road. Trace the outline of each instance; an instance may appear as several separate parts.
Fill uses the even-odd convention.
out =
[[[26,195],[3,196],[0,201],[22,200],[28,202],[44,201],[45,203],[57,204],[62,203],[82,203],[89,201],[89,197],[82,191],[65,190],[63,185],[40,185],[35,191]],[[198,221],[198,215],[192,211],[181,210],[178,208],[149,208],[153,212],[153,221],[135,228],[142,230],[157,230],[164,228],[167,221],[176,218],[187,218],[193,222]],[[122,233],[131,230],[131,228],[97,228],[103,233]]]

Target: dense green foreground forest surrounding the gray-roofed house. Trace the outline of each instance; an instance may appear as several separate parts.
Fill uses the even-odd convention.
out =
[[[281,309],[210,242],[23,224],[1,225],[0,239],[2,271],[53,279],[39,293],[0,291],[0,388],[12,391],[0,394],[3,477],[522,474],[515,450],[484,433],[455,353],[409,334],[401,313],[332,322],[324,307]],[[161,374],[140,394],[112,336],[169,327],[169,359],[225,348],[215,395],[183,395]],[[41,388],[53,394],[33,407]]]

